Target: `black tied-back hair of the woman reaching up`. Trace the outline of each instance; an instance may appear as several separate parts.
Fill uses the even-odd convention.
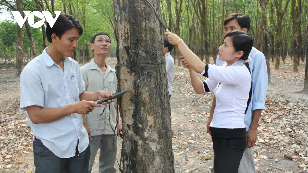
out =
[[[236,52],[243,51],[244,54],[241,57],[242,60],[248,59],[248,56],[250,54],[251,48],[253,46],[253,40],[252,38],[245,33],[244,31],[232,31],[225,35],[225,38],[230,37],[233,48]]]

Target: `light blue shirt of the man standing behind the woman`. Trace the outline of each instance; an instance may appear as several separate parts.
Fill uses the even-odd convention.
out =
[[[252,77],[252,95],[246,115],[244,117],[246,131],[250,127],[253,111],[256,109],[266,109],[264,104],[266,99],[268,82],[266,60],[264,54],[253,47],[250,51],[249,57],[252,58],[252,62],[249,63]],[[222,66],[223,64],[225,64],[225,61],[221,61],[217,55],[216,65]]]

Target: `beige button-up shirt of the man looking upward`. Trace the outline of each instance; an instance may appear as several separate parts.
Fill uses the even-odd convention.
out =
[[[116,92],[117,78],[115,75],[115,69],[111,68],[106,62],[105,74],[99,68],[94,61],[94,58],[90,63],[80,67],[81,76],[85,82],[85,90],[89,92],[95,92],[98,90],[110,91],[111,93]],[[109,117],[109,107],[110,116]],[[106,105],[103,113],[104,105],[101,107],[95,107],[95,110],[85,115],[86,123],[91,131],[92,136],[96,135],[113,135],[114,132],[111,129],[115,129],[116,126],[116,110],[115,103],[112,102]],[[103,115],[101,115],[103,113]],[[110,123],[109,123],[110,118]],[[111,126],[110,126],[111,124]]]

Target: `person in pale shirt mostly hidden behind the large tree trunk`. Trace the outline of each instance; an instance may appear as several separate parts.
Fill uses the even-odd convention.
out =
[[[174,46],[168,42],[168,39],[164,38],[164,53],[166,58],[169,99],[171,98],[172,95],[172,82],[174,77],[174,60],[170,55],[170,51],[173,49],[173,47]]]

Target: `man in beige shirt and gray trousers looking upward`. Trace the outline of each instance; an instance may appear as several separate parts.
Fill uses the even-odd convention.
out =
[[[111,40],[106,33],[99,32],[92,37],[91,49],[94,51],[94,58],[90,63],[80,68],[81,76],[85,82],[85,91],[97,91],[99,88],[111,93],[116,92],[117,78],[115,69],[111,68],[106,62],[110,48]],[[99,173],[116,172],[114,166],[117,151],[116,135],[119,136],[121,131],[116,105],[115,99],[110,105],[96,108],[88,115],[83,115],[83,125],[87,129],[91,140],[89,173],[92,171],[98,148]]]

